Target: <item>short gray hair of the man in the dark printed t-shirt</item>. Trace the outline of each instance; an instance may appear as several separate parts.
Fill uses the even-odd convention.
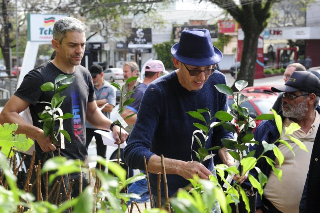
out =
[[[78,33],[85,32],[88,27],[73,17],[63,17],[57,20],[53,25],[53,39],[62,43],[68,31],[76,31]]]

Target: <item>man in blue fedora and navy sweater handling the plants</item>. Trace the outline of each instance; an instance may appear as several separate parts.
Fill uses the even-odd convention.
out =
[[[180,42],[171,48],[174,72],[158,78],[149,84],[140,104],[136,124],[124,149],[125,162],[130,168],[144,169],[146,156],[151,193],[157,195],[157,173],[161,172],[160,155],[164,155],[169,197],[179,188],[189,184],[188,178],[197,174],[209,179],[212,175],[213,159],[203,164],[191,150],[198,150],[199,144],[191,145],[196,129],[196,119],[187,111],[208,108],[214,115],[227,110],[228,97],[220,93],[215,84],[226,84],[225,76],[216,71],[216,64],[222,60],[222,53],[212,45],[206,29],[182,31]],[[204,115],[206,120],[208,115]],[[215,121],[215,120],[213,120]],[[199,138],[201,137],[198,135]],[[220,145],[222,138],[233,138],[222,126],[214,127],[209,133],[206,148]],[[201,137],[203,138],[203,137]],[[228,165],[232,157],[224,149],[220,158]],[[164,185],[161,183],[161,197]],[[155,199],[154,199],[155,201]]]

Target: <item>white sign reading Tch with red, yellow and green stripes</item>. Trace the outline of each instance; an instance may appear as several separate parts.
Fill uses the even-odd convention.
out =
[[[66,16],[66,14],[28,13],[28,41],[51,42],[54,23]]]

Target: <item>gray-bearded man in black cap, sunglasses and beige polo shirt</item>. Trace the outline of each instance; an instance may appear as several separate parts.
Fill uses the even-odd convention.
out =
[[[271,87],[271,90],[284,93],[282,111],[278,113],[282,118],[282,135],[279,135],[274,119],[262,121],[254,132],[254,138],[259,145],[250,146],[249,149],[256,150],[254,157],[258,157],[264,150],[262,141],[274,143],[282,136],[281,139],[285,142],[275,144],[284,155],[281,168],[274,152],[269,151],[264,154],[276,162],[276,168],[282,170],[282,181],[278,180],[264,158],[258,161],[257,167],[268,176],[268,182],[263,189],[262,201],[260,196],[257,196],[256,212],[298,213],[308,166],[314,161],[312,158],[310,161],[311,151],[313,146],[316,146],[314,142],[319,140],[319,135],[317,137],[316,135],[320,123],[320,107],[318,106],[320,80],[310,72],[296,71],[292,73],[284,86]],[[302,141],[308,152],[300,149],[299,145],[289,137],[283,137],[285,128],[293,122],[299,124],[301,129],[293,132],[291,136]],[[295,155],[287,148],[288,144]],[[257,176],[254,169],[251,172],[252,175]]]

